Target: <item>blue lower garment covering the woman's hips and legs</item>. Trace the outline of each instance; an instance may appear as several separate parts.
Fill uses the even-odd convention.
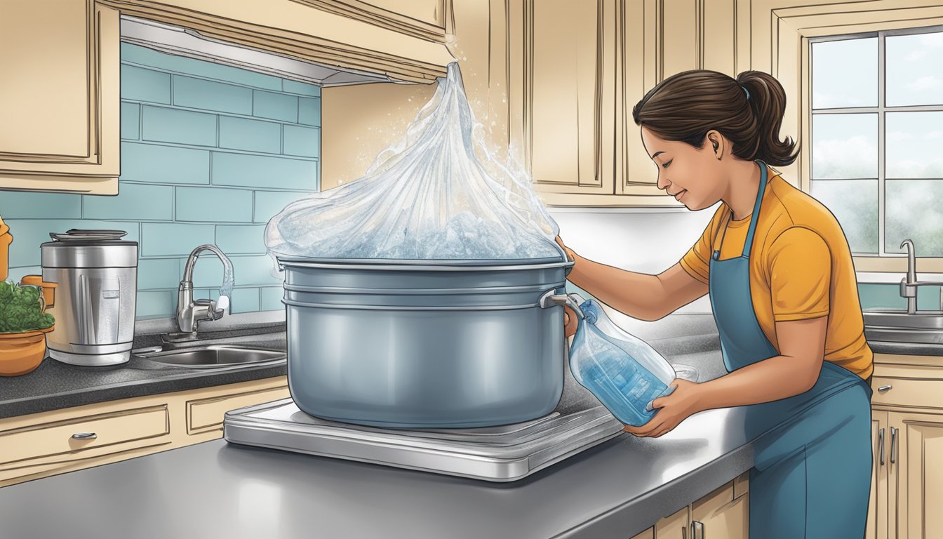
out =
[[[757,441],[755,448],[751,537],[864,537],[871,413],[870,391],[863,383],[808,408],[782,430]]]

